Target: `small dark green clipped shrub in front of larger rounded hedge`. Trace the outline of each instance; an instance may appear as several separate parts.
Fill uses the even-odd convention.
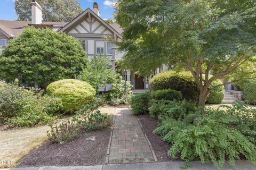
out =
[[[182,95],[180,91],[172,89],[156,90],[151,93],[151,98],[155,100],[181,100]]]

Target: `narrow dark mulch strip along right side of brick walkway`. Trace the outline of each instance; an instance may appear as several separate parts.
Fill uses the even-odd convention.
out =
[[[167,156],[167,151],[171,148],[171,145],[163,142],[159,135],[152,133],[159,125],[159,122],[151,118],[149,114],[138,115],[138,118],[153,147],[158,162],[180,161],[180,159],[174,160]]]

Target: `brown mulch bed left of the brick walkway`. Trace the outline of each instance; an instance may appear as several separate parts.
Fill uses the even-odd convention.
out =
[[[47,141],[23,158],[18,167],[86,166],[105,163],[110,128],[81,132],[73,141],[60,145]],[[86,138],[95,137],[95,140]]]

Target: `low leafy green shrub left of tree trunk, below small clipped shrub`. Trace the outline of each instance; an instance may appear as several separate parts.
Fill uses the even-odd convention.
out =
[[[196,111],[197,106],[191,101],[154,100],[149,114],[152,118],[159,118],[160,120],[165,120],[166,118],[178,120]]]

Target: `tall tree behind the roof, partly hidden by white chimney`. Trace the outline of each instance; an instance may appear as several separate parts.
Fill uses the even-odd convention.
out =
[[[36,0],[43,8],[44,21],[69,22],[83,12],[77,0]],[[15,1],[20,21],[31,21],[31,0]]]

